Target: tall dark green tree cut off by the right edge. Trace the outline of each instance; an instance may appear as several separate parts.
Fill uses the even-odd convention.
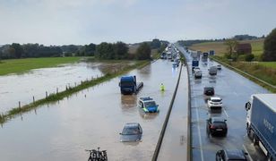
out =
[[[263,61],[276,61],[276,28],[264,39]]]

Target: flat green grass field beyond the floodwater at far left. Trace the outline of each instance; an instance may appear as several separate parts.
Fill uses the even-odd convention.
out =
[[[80,59],[81,57],[47,57],[1,60],[0,75],[28,72],[38,68],[55,67],[59,64],[71,64]]]

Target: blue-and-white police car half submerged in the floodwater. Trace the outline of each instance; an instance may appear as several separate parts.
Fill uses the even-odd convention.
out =
[[[145,113],[159,112],[159,105],[151,97],[140,97],[138,106],[142,108]]]

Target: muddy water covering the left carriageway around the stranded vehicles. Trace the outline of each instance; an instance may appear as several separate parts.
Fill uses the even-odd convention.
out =
[[[1,160],[86,160],[87,148],[108,150],[108,160],[151,160],[177,82],[172,63],[157,61],[131,74],[144,82],[137,96],[122,96],[119,78],[42,106],[0,128]],[[160,83],[166,91],[160,91]],[[153,97],[159,114],[144,114],[138,97]],[[122,143],[125,123],[142,125],[142,141]]]

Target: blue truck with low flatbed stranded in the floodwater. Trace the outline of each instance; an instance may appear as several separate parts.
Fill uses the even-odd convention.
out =
[[[119,87],[121,89],[121,94],[123,95],[132,95],[137,94],[137,92],[142,89],[143,83],[136,81],[136,76],[123,76],[120,79]]]

